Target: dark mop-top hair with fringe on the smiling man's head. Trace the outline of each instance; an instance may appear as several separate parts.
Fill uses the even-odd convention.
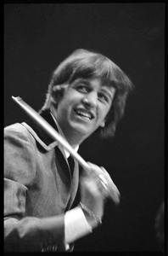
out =
[[[42,109],[50,108],[58,97],[63,96],[64,84],[70,84],[78,78],[101,79],[103,84],[115,87],[115,97],[106,118],[105,126],[99,127],[96,133],[102,137],[115,135],[115,128],[124,114],[126,97],[132,90],[132,82],[120,67],[106,56],[86,49],[76,49],[68,58],[59,64],[54,72],[46,102]]]

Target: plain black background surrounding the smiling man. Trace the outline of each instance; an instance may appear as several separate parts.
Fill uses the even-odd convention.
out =
[[[4,125],[25,120],[11,96],[42,107],[60,61],[74,49],[115,61],[135,89],[115,137],[87,139],[80,154],[120,189],[103,225],[75,252],[157,252],[154,219],[164,200],[165,3],[4,4]]]

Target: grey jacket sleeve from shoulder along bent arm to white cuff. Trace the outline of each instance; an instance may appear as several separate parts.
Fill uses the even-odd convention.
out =
[[[14,129],[5,129],[4,138],[4,251],[64,251],[64,214],[36,218],[25,213],[26,194],[36,175],[31,143]]]

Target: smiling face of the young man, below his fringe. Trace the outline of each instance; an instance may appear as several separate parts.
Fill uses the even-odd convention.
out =
[[[99,79],[76,79],[64,90],[56,109],[56,118],[65,137],[80,138],[81,143],[104,127],[113,102],[115,88],[101,84]]]

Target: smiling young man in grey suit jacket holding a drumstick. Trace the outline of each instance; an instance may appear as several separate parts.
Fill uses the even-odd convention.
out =
[[[114,62],[77,49],[53,72],[40,114],[77,151],[93,133],[115,135],[131,89]],[[70,154],[32,120],[9,125],[4,137],[5,251],[71,251],[102,223],[108,172],[91,163],[92,172],[79,172],[76,160],[70,170]],[[111,179],[110,185],[119,201]],[[78,187],[80,202],[71,208]]]

